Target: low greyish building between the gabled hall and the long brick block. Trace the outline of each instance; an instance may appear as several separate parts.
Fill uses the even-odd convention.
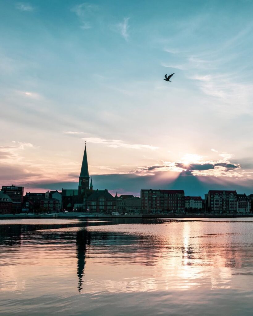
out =
[[[134,197],[133,195],[121,194],[117,197],[117,211],[119,213],[139,213],[141,211],[141,199],[140,197]]]

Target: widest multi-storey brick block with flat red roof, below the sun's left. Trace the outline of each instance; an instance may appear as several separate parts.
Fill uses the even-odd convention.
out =
[[[185,209],[183,190],[144,190],[140,192],[141,209],[143,212],[176,212]]]

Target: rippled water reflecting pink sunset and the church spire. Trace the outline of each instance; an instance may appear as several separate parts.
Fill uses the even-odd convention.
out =
[[[1,220],[0,314],[252,315],[253,219]]]

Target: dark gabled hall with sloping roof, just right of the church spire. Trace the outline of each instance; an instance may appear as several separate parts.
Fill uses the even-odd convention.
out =
[[[110,214],[116,211],[116,198],[108,190],[94,190],[86,198],[87,211],[91,213],[102,212]]]

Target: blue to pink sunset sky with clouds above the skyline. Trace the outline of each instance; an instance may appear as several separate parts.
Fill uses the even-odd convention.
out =
[[[253,1],[0,8],[0,186],[253,193]]]

